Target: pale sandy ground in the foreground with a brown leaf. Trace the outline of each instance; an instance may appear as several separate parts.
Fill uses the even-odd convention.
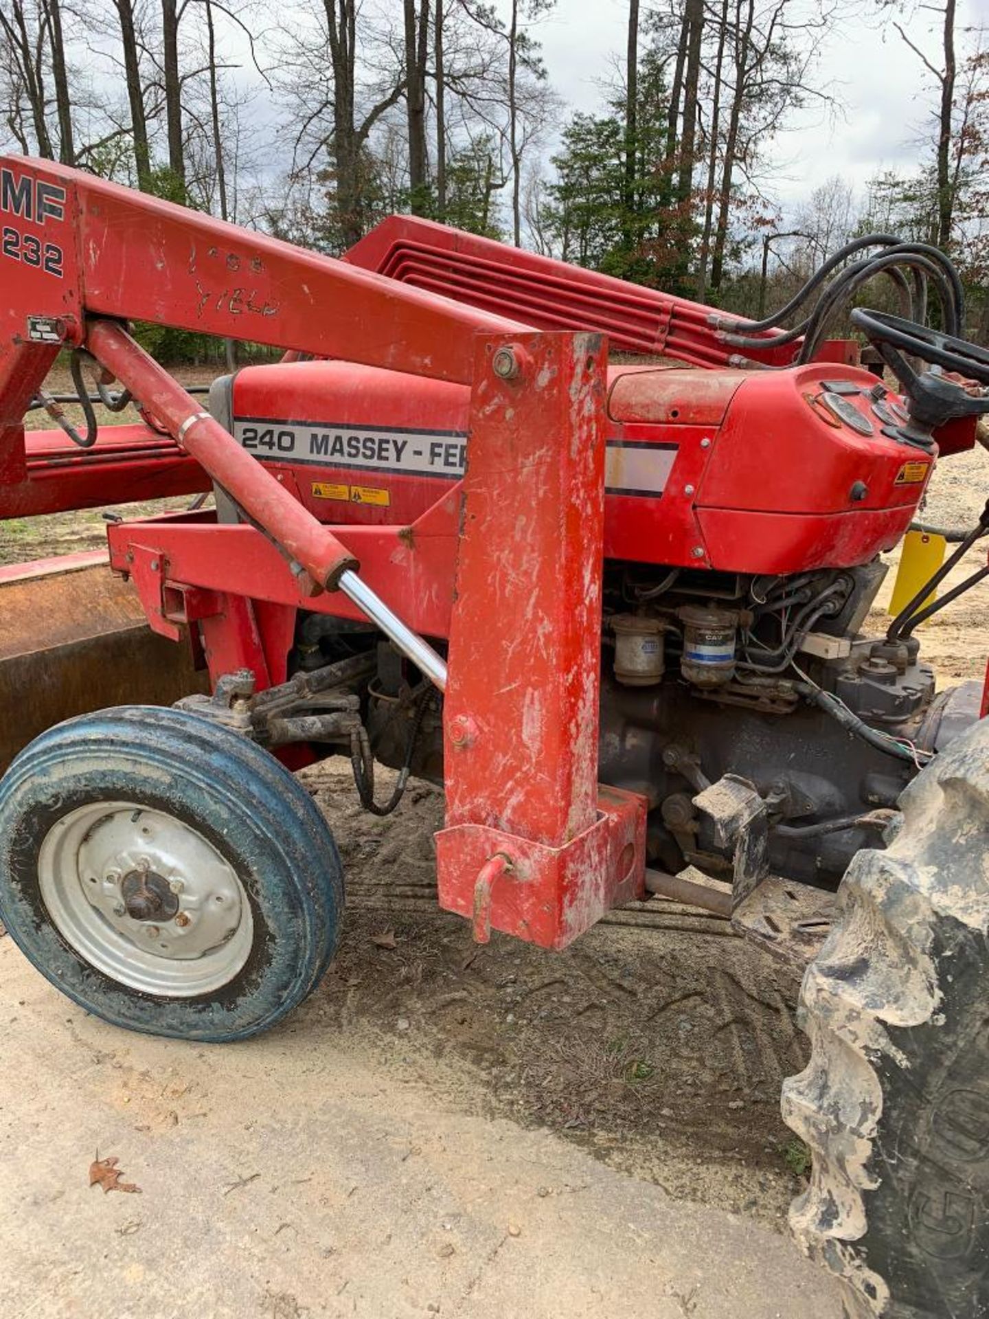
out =
[[[69,1010],[9,939],[0,983],[4,1319],[839,1319],[786,1239],[492,1115],[338,977],[220,1049]]]

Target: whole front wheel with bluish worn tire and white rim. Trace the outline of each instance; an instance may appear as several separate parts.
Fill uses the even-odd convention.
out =
[[[322,979],[342,914],[309,794],[199,715],[73,719],[0,781],[0,921],[113,1025],[212,1042],[266,1030]]]

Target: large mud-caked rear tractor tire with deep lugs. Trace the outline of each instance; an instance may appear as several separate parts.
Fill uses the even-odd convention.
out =
[[[860,852],[807,968],[811,1060],[783,1117],[812,1153],[802,1248],[849,1319],[989,1315],[989,721],[914,780]]]

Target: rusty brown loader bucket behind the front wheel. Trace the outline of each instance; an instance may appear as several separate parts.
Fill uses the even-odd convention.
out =
[[[150,630],[104,550],[0,568],[0,773],[62,719],[206,690],[189,648]]]

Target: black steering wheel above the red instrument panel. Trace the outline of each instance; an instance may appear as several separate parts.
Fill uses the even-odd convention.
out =
[[[956,417],[981,417],[989,413],[989,392],[969,394],[964,386],[931,371],[918,373],[907,355],[944,371],[974,380],[989,390],[989,352],[955,335],[942,334],[885,311],[856,307],[852,324],[857,326],[899,381],[910,401],[910,421],[898,434],[910,445],[931,448],[932,431]]]

